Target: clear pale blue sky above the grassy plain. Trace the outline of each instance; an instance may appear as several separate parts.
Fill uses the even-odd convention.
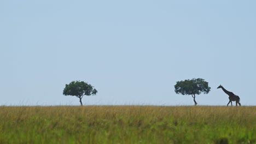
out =
[[[0,105],[256,105],[256,1],[0,1]],[[233,102],[233,104],[235,104]]]

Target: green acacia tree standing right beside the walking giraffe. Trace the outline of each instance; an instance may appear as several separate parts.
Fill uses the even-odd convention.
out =
[[[195,101],[195,94],[199,95],[202,92],[207,94],[211,90],[211,87],[208,86],[208,82],[203,79],[177,81],[174,88],[177,94],[181,93],[182,95],[192,95],[195,105],[197,105]]]

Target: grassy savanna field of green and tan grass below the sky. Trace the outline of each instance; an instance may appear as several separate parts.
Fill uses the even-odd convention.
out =
[[[256,143],[256,106],[0,106],[0,143]]]

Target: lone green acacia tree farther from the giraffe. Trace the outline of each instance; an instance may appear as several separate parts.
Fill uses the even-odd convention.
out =
[[[63,95],[71,95],[79,98],[80,104],[82,103],[82,98],[84,95],[96,95],[98,91],[91,86],[90,84],[83,82],[83,81],[72,81],[63,90]]]

